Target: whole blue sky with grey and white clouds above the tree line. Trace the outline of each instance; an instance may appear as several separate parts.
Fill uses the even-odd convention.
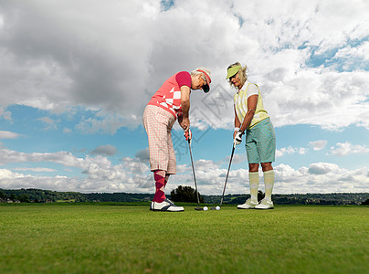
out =
[[[0,188],[152,193],[144,107],[175,72],[204,66],[212,90],[191,94],[192,150],[199,191],[220,195],[234,118],[226,68],[240,61],[276,127],[274,193],[368,192],[368,8],[365,1],[2,1]],[[194,186],[182,135],[176,124],[178,173],[168,194]],[[227,193],[248,193],[243,144]]]

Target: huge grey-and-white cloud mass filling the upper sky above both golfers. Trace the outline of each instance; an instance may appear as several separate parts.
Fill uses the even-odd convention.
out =
[[[5,90],[0,101],[54,112],[70,106],[95,109],[100,114],[81,120],[77,129],[114,134],[141,123],[153,92],[178,70],[211,68],[212,86],[232,94],[224,79],[226,68],[240,60],[248,64],[249,79],[260,85],[276,126],[369,128],[368,72],[340,72],[324,68],[326,64],[311,68],[311,57],[332,50],[338,50],[335,58],[367,59],[368,42],[360,41],[368,36],[363,12],[368,5],[318,0],[232,5],[186,0],[165,8],[159,0],[10,3],[0,17],[0,82]],[[349,43],[354,39],[357,45]],[[193,94],[193,106],[201,106],[205,98]],[[230,127],[233,110],[227,100],[226,108],[198,111],[194,126]]]

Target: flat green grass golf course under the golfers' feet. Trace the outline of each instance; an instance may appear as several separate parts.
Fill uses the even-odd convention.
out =
[[[2,205],[0,273],[368,273],[368,206]]]

